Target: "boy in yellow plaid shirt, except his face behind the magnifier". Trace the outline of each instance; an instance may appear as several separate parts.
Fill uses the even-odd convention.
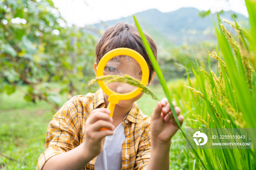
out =
[[[154,40],[145,34],[157,58]],[[117,23],[108,28],[97,43],[96,73],[99,60],[108,51],[126,47],[140,53],[150,70],[148,85],[155,75],[136,27]],[[121,85],[120,85],[121,86]],[[172,136],[178,127],[166,98],[157,103],[152,118],[143,115],[136,101],[139,96],[120,101],[110,118],[108,96],[99,89],[86,96],[74,96],[53,116],[46,134],[46,150],[38,158],[42,170],[167,170]],[[180,124],[183,116],[176,107]],[[102,127],[109,130],[100,131]]]

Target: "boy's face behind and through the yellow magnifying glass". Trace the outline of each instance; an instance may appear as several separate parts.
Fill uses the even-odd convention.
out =
[[[96,73],[95,68],[95,73]],[[103,70],[103,75],[120,75],[124,76],[124,74],[128,74],[138,80],[142,80],[142,69],[139,63],[129,56],[116,56],[109,60],[109,62],[105,65]],[[113,92],[116,93],[129,93],[135,90],[137,87],[133,85],[129,85],[123,82],[112,82],[107,84],[108,88],[111,89]],[[120,107],[128,107],[133,104],[135,101],[139,100],[140,97],[143,96],[143,92],[140,93],[135,98],[130,100],[120,100],[117,104]]]

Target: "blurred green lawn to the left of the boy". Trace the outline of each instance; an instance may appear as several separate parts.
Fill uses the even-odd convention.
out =
[[[33,104],[22,93],[1,94],[0,152],[17,160],[1,157],[0,169],[35,169],[37,157],[45,150],[45,134],[52,108],[45,102]]]

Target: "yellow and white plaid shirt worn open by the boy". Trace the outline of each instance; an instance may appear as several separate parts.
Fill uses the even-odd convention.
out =
[[[95,94],[74,96],[67,101],[49,123],[46,150],[38,158],[37,170],[41,170],[45,162],[54,155],[67,152],[83,143],[87,118],[93,109],[104,107],[101,88]],[[125,134],[122,144],[122,170],[145,170],[151,154],[150,117],[143,115],[134,102],[122,124]],[[94,170],[96,158],[97,156],[83,169]]]

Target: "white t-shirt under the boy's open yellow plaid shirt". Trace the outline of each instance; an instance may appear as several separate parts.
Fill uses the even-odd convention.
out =
[[[106,136],[102,152],[97,156],[95,170],[121,170],[122,144],[125,140],[124,125],[115,128],[114,134]]]

